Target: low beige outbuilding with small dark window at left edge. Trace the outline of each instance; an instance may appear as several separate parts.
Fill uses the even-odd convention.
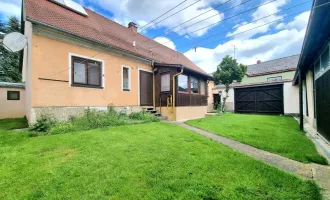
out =
[[[23,83],[0,82],[0,119],[24,117],[24,88]]]

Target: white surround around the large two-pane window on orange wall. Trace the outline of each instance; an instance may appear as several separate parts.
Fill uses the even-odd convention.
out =
[[[95,59],[95,58],[91,58],[91,57],[89,57],[89,56],[83,56],[83,55],[79,55],[79,54],[75,54],[75,53],[71,53],[71,52],[69,52],[69,57],[68,57],[68,60],[69,60],[69,67],[68,67],[68,69],[69,69],[69,87],[75,87],[75,86],[72,86],[71,84],[72,84],[72,56],[74,56],[74,57],[78,57],[78,58],[83,58],[83,59],[88,59],[88,60],[94,60],[94,61],[97,61],[97,62],[100,62],[100,63],[102,63],[102,66],[101,66],[101,78],[102,78],[102,80],[101,80],[101,86],[102,86],[102,88],[93,88],[93,87],[81,87],[81,88],[84,88],[84,89],[98,89],[98,90],[100,90],[100,89],[105,89],[105,70],[104,70],[104,68],[105,68],[105,64],[104,64],[104,60],[100,60],[100,59]]]

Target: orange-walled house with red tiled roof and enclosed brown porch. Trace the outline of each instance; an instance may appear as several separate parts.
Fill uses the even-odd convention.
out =
[[[204,117],[211,76],[182,53],[74,1],[24,0],[25,114],[66,120],[87,107]]]

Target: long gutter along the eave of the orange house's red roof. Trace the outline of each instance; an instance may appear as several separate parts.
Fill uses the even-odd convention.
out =
[[[90,39],[90,38],[88,38],[88,37],[84,37],[84,36],[81,36],[81,35],[77,35],[77,34],[72,33],[72,32],[70,32],[70,31],[66,31],[66,30],[61,29],[61,28],[58,28],[58,27],[56,27],[56,26],[53,26],[53,25],[50,25],[50,24],[46,24],[46,23],[40,22],[40,21],[38,21],[38,20],[31,19],[31,18],[29,18],[29,17],[26,17],[26,20],[27,20],[27,21],[30,21],[30,22],[32,22],[32,23],[34,23],[34,24],[39,24],[39,25],[46,26],[46,27],[48,27],[48,28],[52,28],[52,29],[55,29],[55,30],[58,30],[58,31],[61,31],[61,32],[64,32],[64,33],[67,33],[67,34],[70,34],[70,35],[74,35],[74,36],[76,36],[76,37],[79,37],[79,38],[82,38],[82,39],[88,40],[88,41],[90,41],[90,42],[94,42],[94,43],[97,43],[97,44],[99,44],[99,45],[105,46],[106,48],[111,48],[111,49],[114,49],[114,50],[117,50],[117,51],[120,51],[120,52],[123,52],[123,53],[129,54],[129,55],[132,55],[132,56],[134,56],[134,57],[137,57],[137,58],[139,58],[139,59],[142,59],[142,60],[145,60],[145,61],[148,61],[148,62],[155,61],[154,59],[150,59],[150,58],[147,58],[147,57],[141,56],[141,55],[139,55],[139,54],[133,53],[133,52],[131,52],[131,51],[127,51],[127,50],[124,50],[124,49],[118,48],[118,47],[113,46],[113,45],[111,45],[111,44],[104,44],[104,43],[101,43],[101,42],[99,42],[99,41],[97,41],[97,40],[93,40],[93,39]]]

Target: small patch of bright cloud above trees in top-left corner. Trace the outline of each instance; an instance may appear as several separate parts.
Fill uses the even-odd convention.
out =
[[[1,0],[0,1],[0,13],[10,17],[21,17],[21,1],[20,0]]]

